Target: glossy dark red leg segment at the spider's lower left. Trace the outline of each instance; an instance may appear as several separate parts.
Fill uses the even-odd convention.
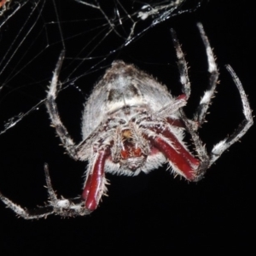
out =
[[[106,191],[104,168],[109,155],[110,150],[99,150],[96,153],[94,163],[88,168],[82,199],[85,201],[84,207],[89,211],[96,209],[102,194]]]

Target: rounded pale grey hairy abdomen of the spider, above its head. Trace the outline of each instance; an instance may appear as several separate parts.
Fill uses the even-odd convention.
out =
[[[83,137],[88,137],[110,114],[120,109],[145,108],[155,112],[172,102],[166,86],[131,64],[113,61],[85,103]]]

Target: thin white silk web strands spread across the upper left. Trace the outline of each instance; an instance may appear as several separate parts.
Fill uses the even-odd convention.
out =
[[[200,4],[192,0],[1,1],[0,135],[44,103],[62,49],[66,52],[62,88],[73,85],[81,92],[76,85],[79,79],[108,67],[149,29],[195,11]]]

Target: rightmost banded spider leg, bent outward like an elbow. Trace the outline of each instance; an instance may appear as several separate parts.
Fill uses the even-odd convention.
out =
[[[241,96],[241,103],[243,108],[243,114],[245,116],[245,119],[241,122],[241,125],[239,125],[238,129],[229,137],[222,141],[220,141],[218,144],[216,144],[212,148],[211,153],[211,159],[210,159],[210,165],[214,163],[216,160],[218,160],[219,156],[227,149],[230,148],[230,146],[233,143],[236,143],[244,134],[247,132],[247,130],[253,125],[253,116],[252,116],[252,110],[250,108],[247,95],[242,87],[240,79],[238,79],[235,71],[233,70],[230,65],[226,66],[227,70],[229,71],[232,79],[234,80],[237,89],[239,90],[240,96]]]

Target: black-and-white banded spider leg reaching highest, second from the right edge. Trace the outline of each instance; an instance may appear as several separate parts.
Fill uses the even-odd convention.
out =
[[[205,44],[205,48],[207,50],[208,72],[210,73],[208,90],[205,91],[204,96],[202,96],[201,102],[194,115],[194,121],[198,124],[197,128],[199,128],[205,122],[207,110],[209,108],[209,105],[211,104],[211,99],[214,96],[216,90],[216,85],[218,83],[218,68],[214,60],[214,55],[209,40],[207,38],[206,32],[204,31],[204,28],[201,25],[201,23],[198,23],[197,26],[201,34],[203,44]]]

